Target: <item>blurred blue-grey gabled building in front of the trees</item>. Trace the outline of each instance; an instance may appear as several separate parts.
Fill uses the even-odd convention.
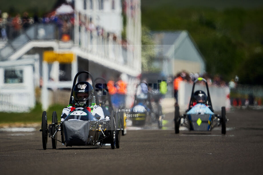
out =
[[[156,44],[156,66],[166,75],[182,70],[204,73],[205,62],[193,38],[187,31],[152,32]]]

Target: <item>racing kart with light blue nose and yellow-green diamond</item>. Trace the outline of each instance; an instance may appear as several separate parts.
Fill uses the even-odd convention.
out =
[[[207,90],[207,104],[203,103],[197,103],[196,105],[193,105],[194,103],[194,87],[196,82],[203,81],[206,84],[206,90]],[[187,127],[190,131],[211,131],[215,126],[221,125],[221,133],[226,134],[226,122],[228,119],[226,119],[226,108],[221,108],[221,115],[215,114],[211,97],[208,89],[208,84],[204,78],[197,78],[194,81],[193,88],[192,88],[192,94],[188,106],[188,110],[186,110],[186,113],[180,115],[179,113],[179,106],[175,106],[175,114],[174,114],[174,128],[175,133],[179,133],[179,127],[184,126]]]

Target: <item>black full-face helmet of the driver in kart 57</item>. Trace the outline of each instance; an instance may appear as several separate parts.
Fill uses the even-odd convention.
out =
[[[94,89],[88,82],[78,82],[73,88],[73,97],[78,106],[90,105],[93,94]]]

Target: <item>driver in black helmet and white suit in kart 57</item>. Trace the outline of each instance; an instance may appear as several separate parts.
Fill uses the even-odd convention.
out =
[[[94,89],[88,82],[78,82],[73,88],[74,104],[65,107],[61,114],[61,121],[77,107],[85,107],[97,119],[104,119],[104,113],[100,106],[92,104]]]

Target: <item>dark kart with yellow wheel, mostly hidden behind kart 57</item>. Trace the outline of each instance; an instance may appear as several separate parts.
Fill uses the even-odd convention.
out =
[[[95,89],[96,91],[105,89],[104,91],[101,91],[101,93],[105,93],[105,94],[102,94],[102,95],[105,95],[105,99],[103,101],[100,101],[99,99],[99,102],[100,102],[100,106],[103,109],[104,114],[107,114],[107,113],[109,114],[109,111],[113,110],[113,105],[111,102],[111,97],[109,95],[109,89],[108,89],[106,80],[102,77],[95,78],[95,88],[96,88]],[[127,134],[127,126],[126,126],[127,117],[125,114],[125,110],[116,111],[115,117],[118,118],[118,119],[115,119],[115,121],[118,121],[118,123],[116,123],[116,127],[119,129],[122,129],[121,130],[122,135],[126,135]]]

